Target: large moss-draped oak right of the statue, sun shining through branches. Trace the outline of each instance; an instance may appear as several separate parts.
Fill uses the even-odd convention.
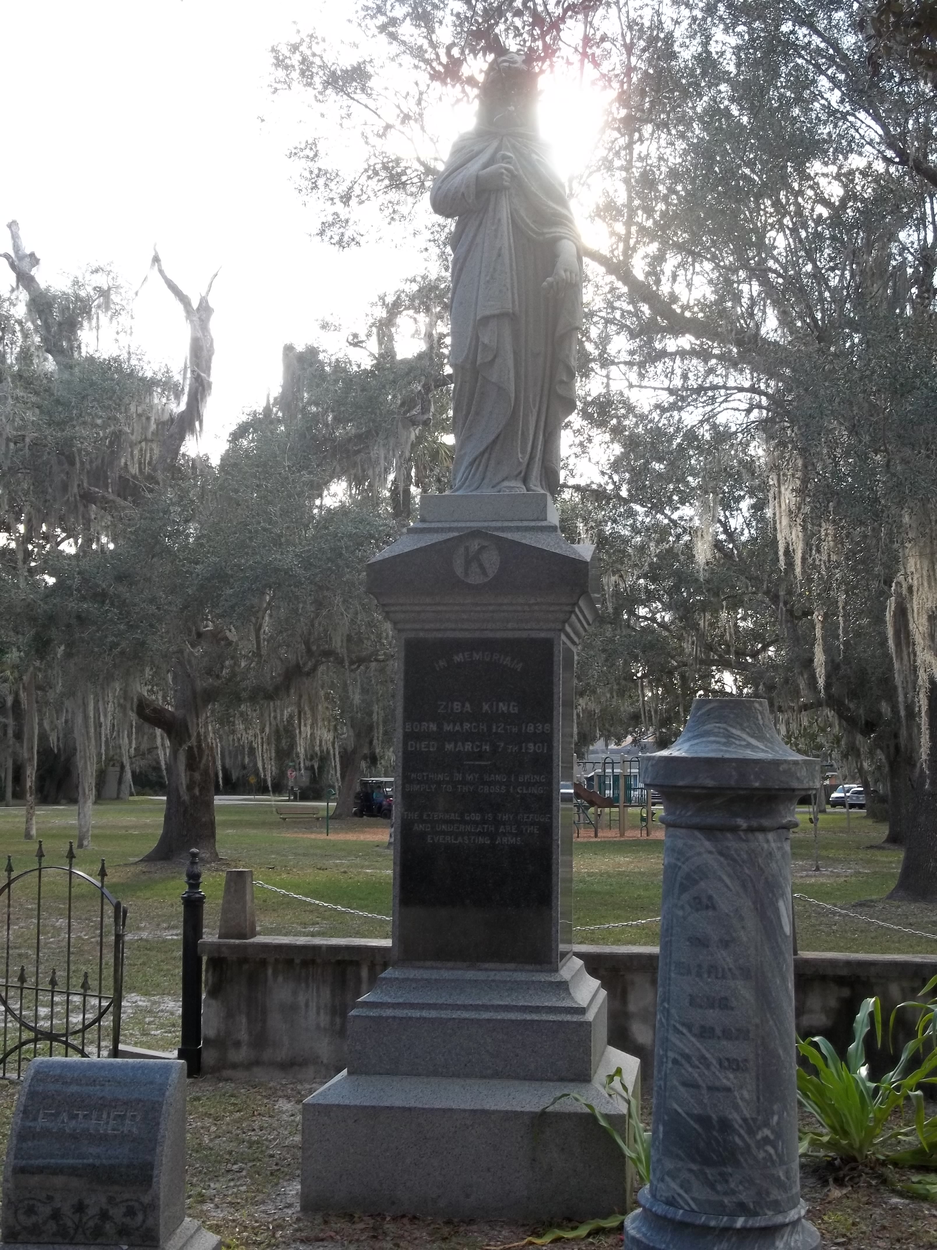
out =
[[[618,430],[621,455],[612,445],[600,465],[592,530],[611,531],[611,551],[622,516],[643,502],[631,521],[638,539],[656,525],[682,532],[683,548],[690,531],[701,535],[696,586],[660,565],[668,595],[635,584],[635,610],[655,605],[642,645],[658,678],[672,668],[661,642],[670,631],[713,661],[710,675],[730,661],[737,689],[770,694],[791,724],[832,718],[883,774],[892,835],[906,844],[896,892],[933,899],[937,98],[902,12],[882,6],[870,26],[833,0],[672,10],[369,0],[357,12],[365,51],[312,31],[276,65],[284,86],[311,91],[329,114],[331,134],[324,126],[296,155],[320,232],[342,246],[375,206],[385,229],[406,222],[442,241],[425,214],[445,155],[434,110],[464,99],[501,46],[582,69],[605,89],[605,129],[575,188],[595,240],[583,418],[597,436],[616,432],[602,424],[602,391],[630,390],[636,408]],[[351,136],[355,169],[335,159]],[[675,430],[670,450],[642,461],[642,424],[668,419],[711,431],[713,454],[687,465]],[[740,495],[742,464],[751,476]],[[675,510],[677,484],[690,491]],[[751,562],[730,534],[756,519]],[[655,560],[661,551],[662,539]],[[620,570],[606,575],[613,590]],[[726,579],[742,608],[732,629],[742,620],[762,648],[755,666],[732,662],[731,602],[697,610]],[[706,664],[693,662],[706,689]],[[693,669],[683,670],[688,698]]]

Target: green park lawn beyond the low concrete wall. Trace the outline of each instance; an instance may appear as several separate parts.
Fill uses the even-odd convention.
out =
[[[222,861],[209,866],[202,880],[206,894],[205,932],[217,931],[225,868],[250,868],[255,880],[326,902],[390,915],[391,852],[387,824],[380,820],[344,821],[324,836],[312,821],[284,824],[270,804],[221,804],[217,808],[217,846]],[[563,812],[568,819],[568,811]],[[803,818],[805,814],[802,814]],[[633,816],[633,814],[632,814]],[[70,839],[76,836],[75,808],[40,808],[36,816],[45,864],[64,864]],[[179,964],[181,938],[180,894],[185,886],[179,864],[139,864],[155,844],[162,805],[152,799],[101,802],[95,808],[92,848],[77,852],[76,868],[96,875],[101,858],[107,886],[129,908],[124,1039],[140,1045],[170,1048],[179,1029]],[[357,836],[335,836],[354,831]],[[590,929],[660,915],[663,841],[620,839],[602,830],[573,842],[576,940],[601,945],[656,945],[656,924],[638,928]],[[821,816],[817,838],[820,871],[813,870],[810,825],[792,838],[795,890],[862,916],[937,934],[937,909],[885,902],[895,884],[900,852],[870,849],[881,842],[885,828],[856,814],[846,832],[843,814]],[[0,808],[0,854],[10,855],[15,871],[35,864],[35,844],[22,839],[22,809]],[[0,860],[2,864],[2,860]],[[61,908],[61,884],[46,889],[46,905]],[[261,934],[322,938],[386,938],[390,924],[329,911],[307,902],[256,890]],[[801,950],[840,950],[933,954],[937,940],[915,938],[863,920],[836,916],[808,902],[796,905]],[[24,921],[24,939],[29,924]],[[26,956],[24,956],[24,961]]]

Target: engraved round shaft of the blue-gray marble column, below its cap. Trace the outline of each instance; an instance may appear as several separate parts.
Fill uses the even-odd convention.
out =
[[[668,812],[665,789],[653,1195],[688,1211],[790,1211],[793,970],[778,906],[790,891],[787,831],[681,828],[676,806]]]

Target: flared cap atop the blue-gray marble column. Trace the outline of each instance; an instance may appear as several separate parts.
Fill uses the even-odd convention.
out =
[[[791,750],[765,699],[695,699],[672,746],[647,756],[646,785],[661,790],[816,790],[821,761]]]

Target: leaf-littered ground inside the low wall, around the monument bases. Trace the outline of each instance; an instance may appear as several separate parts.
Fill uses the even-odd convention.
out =
[[[501,1221],[304,1215],[300,1106],[315,1088],[215,1078],[189,1082],[189,1214],[219,1232],[225,1250],[483,1250],[517,1245],[543,1231]],[[0,1082],[0,1150],[17,1089]],[[806,1162],[801,1184],[823,1250],[937,1248],[937,1204],[905,1198],[872,1172],[837,1175]],[[581,1244],[611,1250],[621,1246],[621,1234]]]

